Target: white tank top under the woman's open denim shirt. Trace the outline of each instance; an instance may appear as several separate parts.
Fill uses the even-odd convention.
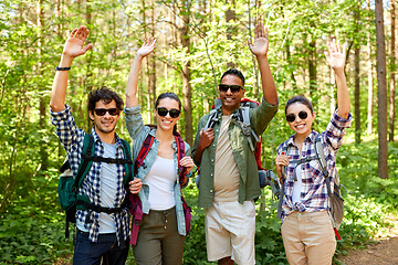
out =
[[[149,186],[149,209],[168,210],[176,205],[174,187],[177,173],[174,159],[157,156],[144,182]]]

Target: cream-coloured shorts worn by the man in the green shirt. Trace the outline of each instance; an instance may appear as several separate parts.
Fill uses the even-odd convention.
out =
[[[206,210],[206,246],[210,262],[231,256],[237,264],[255,264],[253,201],[213,201]]]

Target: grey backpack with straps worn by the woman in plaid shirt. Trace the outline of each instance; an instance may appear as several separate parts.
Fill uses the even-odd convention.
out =
[[[344,216],[344,199],[342,198],[342,193],[341,193],[341,184],[339,184],[339,177],[338,177],[338,171],[337,169],[335,169],[335,184],[334,184],[334,190],[332,193],[332,188],[331,188],[331,180],[329,180],[329,172],[327,170],[327,163],[326,163],[326,159],[325,159],[325,152],[322,146],[322,139],[321,139],[322,135],[317,134],[315,136],[315,156],[313,157],[307,157],[304,159],[298,159],[298,160],[292,160],[290,161],[291,163],[296,163],[295,168],[302,163],[305,162],[310,162],[312,160],[317,160],[320,162],[321,166],[321,171],[325,178],[325,182],[326,182],[326,189],[327,189],[327,195],[328,195],[328,204],[331,206],[331,220],[332,220],[332,225],[333,225],[333,230],[336,234],[337,240],[342,240],[341,235],[338,234],[338,229],[343,222],[343,216]],[[284,150],[282,151],[282,153],[287,153],[287,147],[284,148]],[[280,195],[280,201],[279,201],[279,205],[277,205],[277,218],[281,219],[282,218],[282,203],[283,203],[283,197],[284,197],[284,179],[285,179],[285,169],[282,169],[282,174],[283,174],[283,181],[281,183],[282,189],[281,189],[281,195]]]

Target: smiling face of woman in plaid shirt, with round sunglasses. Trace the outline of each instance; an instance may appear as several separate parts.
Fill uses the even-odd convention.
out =
[[[306,114],[306,117],[304,113]],[[291,104],[286,109],[286,117],[293,115],[294,120],[287,121],[289,126],[296,132],[297,136],[307,137],[312,131],[311,126],[315,119],[315,114],[312,114],[311,109],[306,105],[297,102]]]

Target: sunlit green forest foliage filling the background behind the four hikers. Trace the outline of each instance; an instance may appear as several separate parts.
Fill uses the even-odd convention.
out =
[[[52,264],[60,257],[69,259],[73,252],[72,241],[63,239],[64,218],[56,199],[56,169],[63,161],[64,150],[49,117],[54,67],[73,28],[86,24],[91,31],[88,42],[94,43],[92,51],[74,61],[70,72],[66,103],[80,128],[86,131],[91,128],[87,93],[106,85],[123,95],[135,51],[144,35],[151,35],[154,30],[158,39],[157,94],[171,91],[182,98],[182,63],[190,62],[195,134],[197,121],[217,96],[217,83],[227,63],[234,63],[244,73],[247,96],[261,99],[258,65],[245,41],[253,38],[254,18],[262,15],[269,28],[269,61],[281,106],[263,135],[263,163],[268,169],[274,167],[277,145],[292,135],[284,119],[284,104],[290,97],[305,94],[312,99],[317,131],[324,130],[329,120],[329,100],[335,89],[323,55],[326,40],[336,36],[348,44],[365,45],[369,33],[376,51],[374,11],[358,7],[356,1],[265,0],[255,7],[253,1],[243,0],[228,1],[228,4],[226,1],[158,0],[154,7],[145,8],[142,3],[146,1],[71,1],[67,4],[60,1],[60,9],[56,2],[11,0],[0,4],[0,264]],[[38,4],[43,11],[41,25],[38,25]],[[234,19],[229,22],[226,21],[228,8],[234,10]],[[151,9],[156,13],[154,25],[149,18]],[[360,21],[354,19],[358,9]],[[175,38],[184,15],[189,17],[189,32],[185,36],[190,38],[189,53]],[[231,33],[230,36],[227,33]],[[316,89],[311,92],[310,52],[314,52],[317,70]],[[350,64],[348,54],[348,87],[354,80]],[[146,106],[149,96],[154,96],[148,95],[148,75],[143,65],[138,94],[146,123],[153,112]],[[366,82],[365,76],[362,85]],[[356,119],[366,119],[366,99],[362,97],[363,114]],[[184,128],[184,120],[182,117],[179,128]],[[377,123],[376,116],[374,120]],[[123,116],[117,132],[128,139]],[[389,179],[377,177],[377,152],[376,140],[344,145],[338,151],[342,183],[349,192],[345,194],[346,221],[341,229],[343,241],[338,243],[338,253],[362,245],[377,231],[383,231],[386,213],[398,209],[398,167],[395,167],[398,146],[389,145]],[[203,211],[195,206],[197,189],[190,184],[185,193],[193,209],[185,263],[207,264]],[[269,191],[265,194],[271,197]],[[259,264],[286,264],[279,221],[274,216],[275,205],[269,200],[265,210],[258,211]],[[133,255],[128,261],[134,264]]]

